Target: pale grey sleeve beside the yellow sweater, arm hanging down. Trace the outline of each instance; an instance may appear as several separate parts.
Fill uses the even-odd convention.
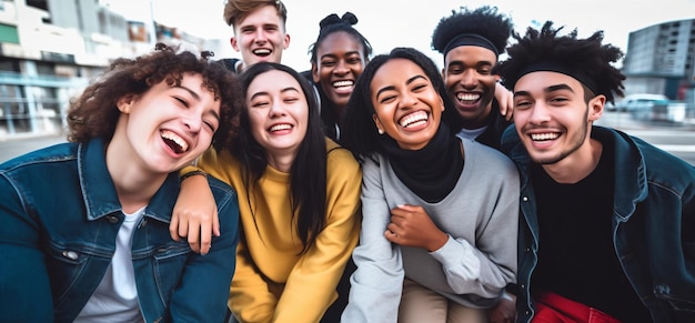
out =
[[[397,322],[404,277],[401,250],[384,236],[391,211],[379,165],[365,159],[362,171],[362,230],[353,252],[357,269],[350,279],[342,322]]]

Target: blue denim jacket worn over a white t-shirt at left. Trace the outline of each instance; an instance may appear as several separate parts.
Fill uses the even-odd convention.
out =
[[[63,143],[0,165],[0,321],[71,322],[103,277],[124,215],[101,140]],[[222,235],[209,254],[174,242],[179,179],[152,196],[133,232],[145,322],[222,322],[239,240],[236,193],[209,178]]]

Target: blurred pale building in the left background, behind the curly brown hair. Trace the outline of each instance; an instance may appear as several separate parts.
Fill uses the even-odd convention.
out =
[[[61,131],[71,97],[115,58],[150,52],[157,41],[220,46],[128,21],[100,0],[0,0],[0,140]]]

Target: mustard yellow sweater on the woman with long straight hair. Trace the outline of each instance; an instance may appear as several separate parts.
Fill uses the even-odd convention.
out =
[[[228,304],[241,322],[319,322],[338,297],[335,287],[360,234],[362,172],[348,150],[336,148],[326,140],[326,226],[301,255],[289,173],[268,166],[250,198],[228,151],[210,149],[199,160],[239,194],[242,235]]]

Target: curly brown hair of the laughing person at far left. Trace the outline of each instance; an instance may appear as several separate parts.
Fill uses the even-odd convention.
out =
[[[210,61],[213,53],[201,52],[201,58],[190,51],[163,43],[155,51],[134,59],[120,58],[77,98],[70,100],[68,110],[68,140],[87,142],[92,138],[110,141],[121,112],[117,103],[122,98],[138,98],[153,85],[164,81],[179,85],[187,72],[201,74],[203,87],[220,101],[220,128],[212,142],[215,149],[228,148],[239,128],[239,113],[243,107],[240,82],[220,62]]]

